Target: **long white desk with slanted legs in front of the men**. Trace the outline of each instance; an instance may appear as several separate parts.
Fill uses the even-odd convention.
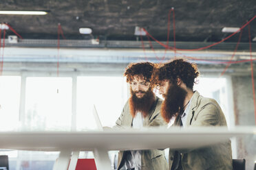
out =
[[[76,165],[79,151],[94,151],[98,170],[111,169],[109,150],[198,148],[226,141],[231,137],[256,134],[255,127],[171,128],[145,130],[107,130],[90,132],[0,132],[1,149],[29,151],[61,151],[54,170]],[[109,167],[109,168],[107,168]]]

